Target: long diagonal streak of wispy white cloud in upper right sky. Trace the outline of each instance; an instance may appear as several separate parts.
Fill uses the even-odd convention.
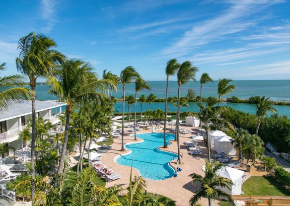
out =
[[[198,45],[206,45],[228,38],[230,35],[255,26],[259,19],[249,19],[251,14],[282,0],[229,1],[230,7],[218,16],[204,20],[185,32],[175,44],[163,50],[164,56],[183,56]]]

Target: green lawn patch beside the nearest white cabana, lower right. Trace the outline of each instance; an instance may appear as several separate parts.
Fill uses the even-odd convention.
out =
[[[272,176],[252,176],[242,185],[245,195],[290,196]]]

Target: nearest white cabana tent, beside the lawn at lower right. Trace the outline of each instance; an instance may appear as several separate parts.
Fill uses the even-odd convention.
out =
[[[243,171],[231,167],[224,167],[217,170],[217,175],[231,180],[234,184],[230,187],[231,190],[227,188],[221,188],[221,190],[229,195],[240,195],[242,191],[243,174]]]

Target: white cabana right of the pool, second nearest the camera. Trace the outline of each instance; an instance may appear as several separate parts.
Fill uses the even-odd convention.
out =
[[[232,138],[228,136],[224,137],[215,137],[214,150],[217,151],[217,154],[225,152],[227,155],[235,155],[236,150],[234,144],[232,144]]]

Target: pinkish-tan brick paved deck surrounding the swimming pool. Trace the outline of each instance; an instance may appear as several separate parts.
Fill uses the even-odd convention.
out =
[[[170,131],[171,126],[167,126],[166,132],[168,134],[174,134]],[[171,198],[173,201],[175,201],[176,206],[188,206],[188,201],[190,198],[194,195],[193,192],[197,191],[200,188],[199,184],[196,184],[193,186],[191,184],[191,178],[189,175],[191,173],[197,173],[200,175],[204,175],[204,172],[202,171],[202,165],[205,164],[204,158],[207,158],[207,149],[204,145],[203,141],[199,141],[199,144],[202,148],[202,154],[198,155],[190,155],[187,150],[187,146],[183,144],[186,140],[191,140],[192,136],[196,135],[196,131],[199,128],[192,128],[192,127],[186,127],[186,126],[180,126],[181,128],[185,129],[191,129],[191,134],[180,134],[180,151],[181,151],[181,164],[179,167],[182,169],[182,172],[178,172],[178,176],[176,178],[172,177],[166,180],[146,180],[146,189],[147,192],[156,193],[160,195],[164,195],[168,198]],[[133,135],[134,133],[129,133],[128,128],[125,128],[124,132],[124,140],[129,143],[134,141],[134,137],[131,137],[130,135]],[[158,131],[157,131],[158,132]],[[159,131],[160,133],[163,133],[162,131]],[[151,131],[148,130],[141,130],[138,133],[151,133]],[[138,139],[137,141],[140,141]],[[165,150],[177,152],[177,142],[171,141],[172,144],[168,145],[168,148]],[[113,149],[109,150],[102,158],[102,162],[106,164],[109,168],[113,169],[116,173],[119,173],[122,175],[122,179],[115,180],[111,183],[106,183],[106,187],[111,187],[113,185],[121,185],[122,187],[128,187],[129,186],[129,180],[130,180],[130,169],[129,166],[124,166],[117,164],[113,159],[116,156],[119,156],[120,154],[125,154],[129,152],[129,150],[125,152],[121,152],[121,135],[118,138],[114,138]],[[162,147],[163,145],[161,145]],[[126,149],[126,148],[125,148]],[[163,148],[162,148],[163,149]],[[173,162],[173,165],[176,164],[176,161]],[[133,168],[133,175],[138,175],[138,170]],[[200,201],[203,205],[208,205],[208,199],[202,198]],[[217,205],[218,201],[215,201],[215,205]]]

